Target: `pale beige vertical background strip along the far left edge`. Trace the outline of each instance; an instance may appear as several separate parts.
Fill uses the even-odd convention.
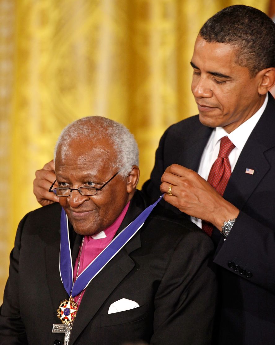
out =
[[[15,3],[0,0],[0,302],[7,280],[9,252],[12,247],[12,205],[11,166],[12,144],[12,97],[14,91],[14,50],[15,50]],[[15,153],[16,155],[16,153]]]

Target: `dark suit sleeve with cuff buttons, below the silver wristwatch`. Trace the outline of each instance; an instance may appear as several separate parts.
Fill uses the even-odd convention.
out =
[[[214,262],[275,293],[275,232],[242,211]]]

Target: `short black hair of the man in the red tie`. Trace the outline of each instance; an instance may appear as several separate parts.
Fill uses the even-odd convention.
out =
[[[229,43],[237,49],[237,63],[251,76],[275,67],[275,23],[264,12],[245,5],[233,5],[214,14],[199,35],[207,42]]]

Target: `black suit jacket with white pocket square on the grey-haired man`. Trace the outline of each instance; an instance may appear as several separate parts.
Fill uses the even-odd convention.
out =
[[[146,207],[137,192],[118,233]],[[0,312],[0,344],[53,344],[60,301],[68,298],[59,274],[59,204],[26,215],[18,228]],[[75,262],[81,236],[70,230]],[[208,259],[213,244],[181,218],[156,206],[143,227],[86,288],[70,345],[210,344],[216,281]],[[211,262],[211,259],[210,259]],[[212,265],[213,266],[213,265]],[[121,298],[140,307],[108,314]]]

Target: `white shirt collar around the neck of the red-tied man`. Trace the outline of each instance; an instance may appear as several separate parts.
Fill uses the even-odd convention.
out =
[[[236,148],[242,151],[249,135],[251,134],[257,122],[263,115],[263,112],[267,105],[267,101],[268,101],[268,93],[266,94],[264,103],[261,106],[261,108],[258,111],[256,111],[255,114],[251,116],[251,118],[246,120],[243,124],[241,124],[239,127],[234,129],[231,133],[228,134],[222,127],[216,127],[214,129],[213,140],[211,140],[212,145],[213,145],[211,150],[214,149],[215,145],[218,143],[218,141],[221,140],[222,137],[227,136],[233,142]],[[209,144],[211,145],[210,142]]]

